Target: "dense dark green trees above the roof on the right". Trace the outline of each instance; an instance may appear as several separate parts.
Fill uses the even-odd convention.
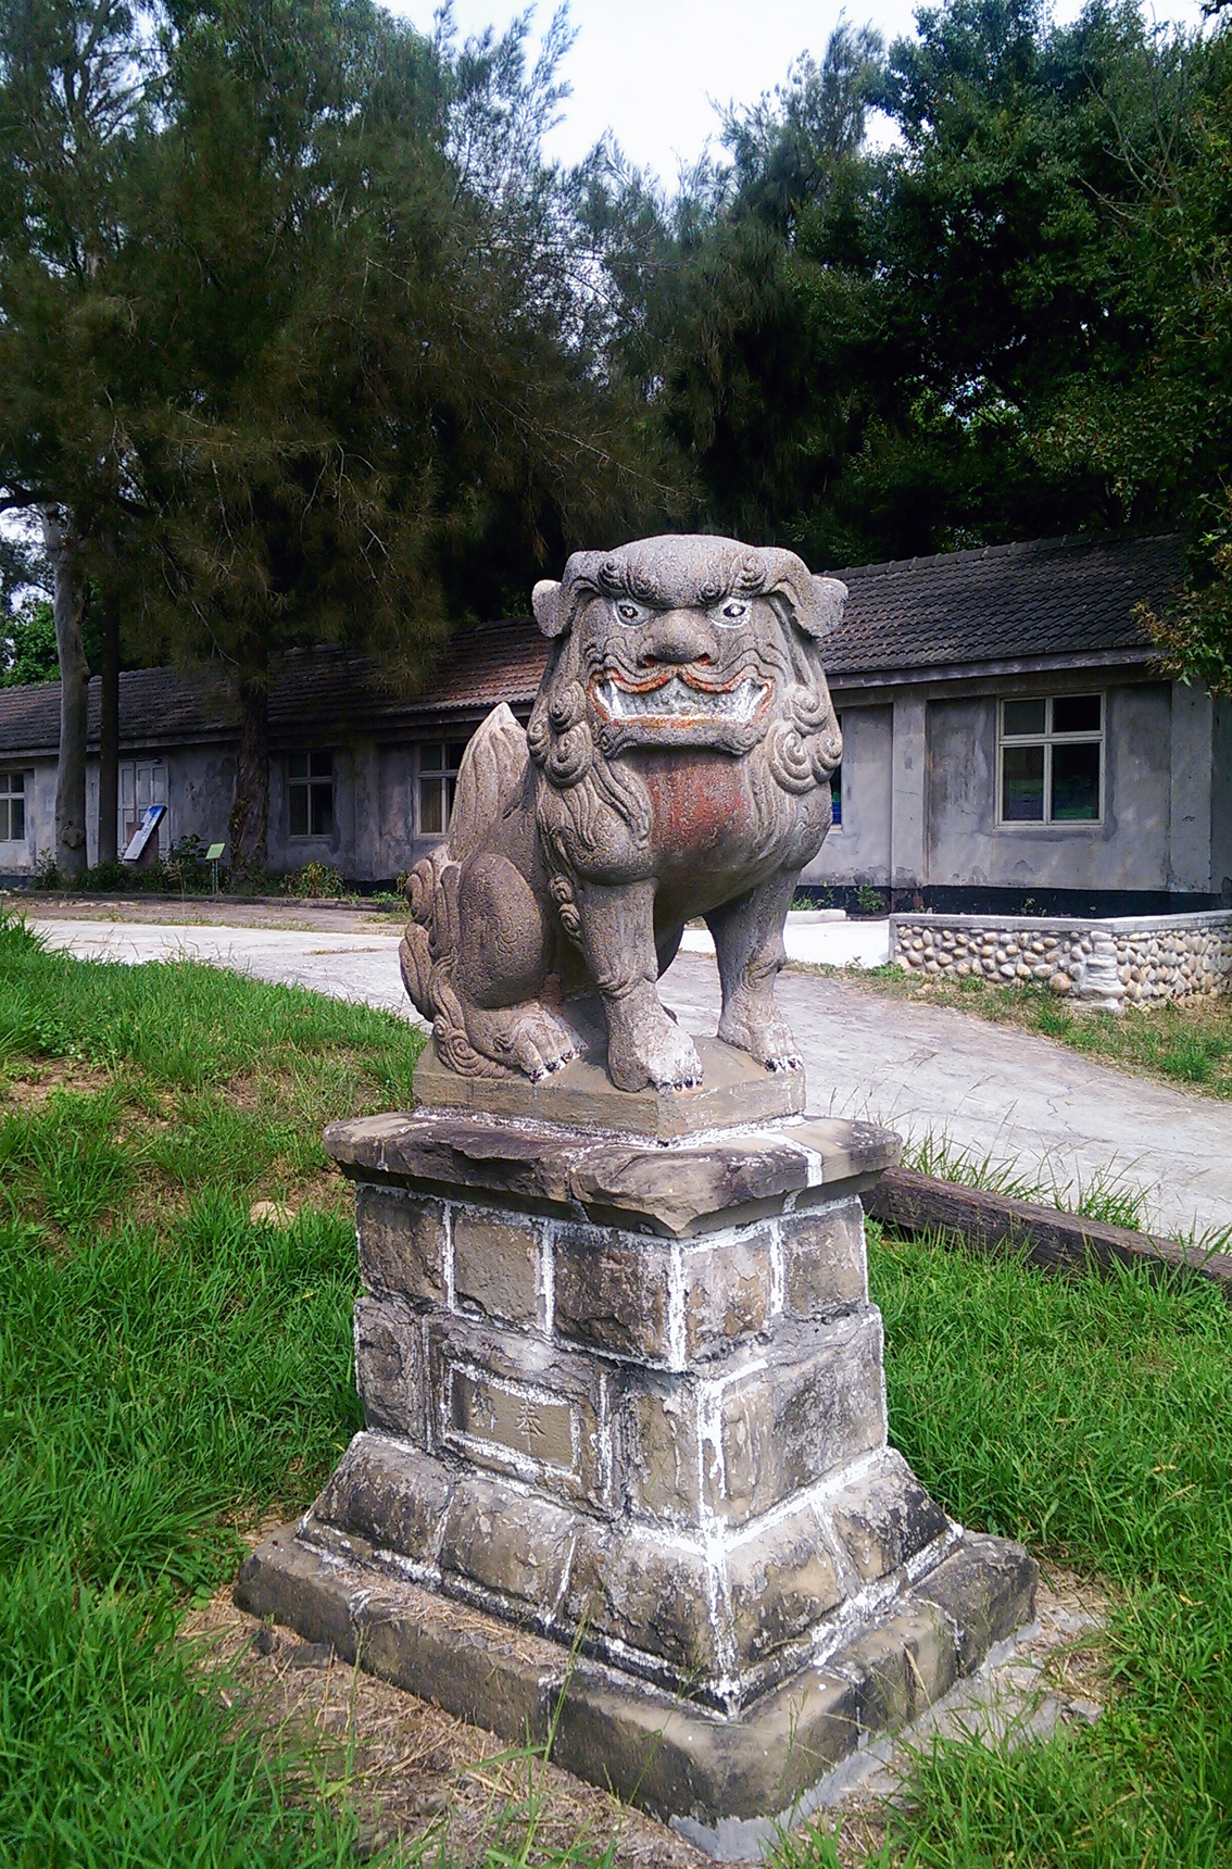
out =
[[[1039,0],[948,0],[884,58],[839,26],[821,65],[727,112],[731,164],[675,200],[593,164],[613,366],[692,469],[695,518],[817,564],[1196,535],[1228,478],[1226,49],[1223,24],[1133,4],[1058,26]],[[899,150],[866,148],[873,105]]]

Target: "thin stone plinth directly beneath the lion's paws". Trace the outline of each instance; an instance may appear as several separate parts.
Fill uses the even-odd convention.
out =
[[[415,1106],[423,1110],[509,1116],[531,1123],[568,1123],[606,1134],[671,1142],[709,1129],[772,1123],[804,1114],[804,1071],[766,1071],[723,1045],[694,1039],[703,1082],[690,1090],[617,1090],[608,1077],[606,1050],[574,1058],[565,1069],[531,1084],[522,1077],[460,1077],[424,1047],[415,1065]]]

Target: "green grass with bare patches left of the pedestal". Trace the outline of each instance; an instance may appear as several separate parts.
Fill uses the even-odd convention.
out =
[[[366,1007],[0,925],[6,1865],[355,1860],[310,1759],[258,1744],[170,1637],[236,1525],[303,1506],[357,1424],[320,1125],[404,1103],[415,1050]],[[69,1077],[32,1099],[47,1071]],[[305,1176],[323,1206],[249,1224],[256,1185]]]

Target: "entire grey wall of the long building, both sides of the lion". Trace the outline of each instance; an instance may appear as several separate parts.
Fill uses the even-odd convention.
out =
[[[1067,684],[1073,686],[1073,684]],[[1096,682],[1092,682],[1092,688]],[[1002,684],[1011,692],[1010,684]],[[1017,693],[1028,692],[1021,682]],[[1034,690],[1041,692],[1039,686]],[[804,882],[918,890],[1082,890],[1232,893],[1232,705],[1167,682],[1110,682],[1105,706],[1101,824],[996,822],[993,692],[905,690],[892,701],[843,703],[843,822]],[[426,729],[436,738],[445,729]],[[466,738],[466,727],[451,735]],[[355,882],[396,877],[434,837],[417,835],[417,740],[355,740],[333,753],[333,830],[292,837],[286,753],[271,757],[269,867],[322,862]],[[310,749],[307,744],[305,751]],[[163,753],[168,819],[163,849],[181,837],[226,837],[236,753],[226,746]],[[34,869],[54,845],[54,761],[26,772],[26,839],[0,847],[0,873]],[[97,858],[97,763],[90,770],[90,862]],[[944,899],[944,897],[942,897]]]

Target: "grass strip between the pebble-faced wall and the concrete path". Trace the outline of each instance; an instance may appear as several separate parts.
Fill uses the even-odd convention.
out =
[[[793,963],[795,964],[795,963]],[[1144,1071],[1168,1084],[1232,1097],[1232,996],[1191,1006],[1127,1006],[1124,1013],[1075,1011],[1045,985],[995,987],[987,979],[937,981],[899,966],[806,968],[890,1000],[953,1006],[993,1024],[1021,1026],[1101,1063]]]

